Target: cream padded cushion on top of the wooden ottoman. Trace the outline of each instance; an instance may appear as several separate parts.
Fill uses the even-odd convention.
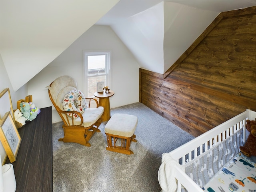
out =
[[[105,133],[124,137],[131,137],[135,132],[137,124],[137,116],[116,113],[110,118],[110,120],[106,124]]]

